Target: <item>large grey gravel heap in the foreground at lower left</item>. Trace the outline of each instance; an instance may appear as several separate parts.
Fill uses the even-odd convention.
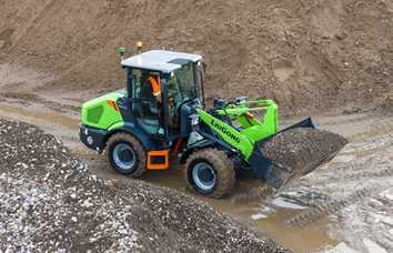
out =
[[[52,135],[0,119],[0,251],[288,252],[190,196],[103,181]]]

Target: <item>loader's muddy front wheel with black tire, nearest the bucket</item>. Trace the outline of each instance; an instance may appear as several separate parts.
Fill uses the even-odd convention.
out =
[[[213,180],[199,179],[198,171],[203,170],[212,172]],[[232,161],[224,152],[216,149],[199,150],[191,154],[185,162],[184,178],[188,190],[215,199],[229,195],[236,182]],[[208,183],[204,184],[204,182]],[[202,188],[201,184],[203,184]]]

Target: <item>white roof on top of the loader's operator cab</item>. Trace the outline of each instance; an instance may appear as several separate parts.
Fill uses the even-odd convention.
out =
[[[180,69],[182,64],[189,61],[196,62],[200,60],[202,60],[200,54],[151,50],[124,59],[121,64],[129,68],[155,70],[169,73]]]

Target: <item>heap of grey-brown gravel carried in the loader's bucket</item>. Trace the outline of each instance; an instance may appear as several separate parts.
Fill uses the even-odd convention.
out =
[[[268,183],[279,189],[331,160],[347,141],[324,130],[296,128],[273,136],[261,152],[274,162]]]

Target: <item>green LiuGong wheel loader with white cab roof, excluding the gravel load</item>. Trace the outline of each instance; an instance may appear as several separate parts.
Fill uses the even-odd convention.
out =
[[[80,124],[80,140],[107,153],[117,172],[140,178],[179,159],[187,188],[211,198],[229,195],[243,171],[275,189],[294,178],[263,145],[293,129],[314,129],[311,119],[280,130],[271,99],[216,98],[206,108],[202,55],[151,50],[124,59],[124,49],[119,52],[127,88],[83,103]],[[158,78],[159,99],[144,92],[151,75]],[[341,148],[321,154],[308,172]]]

